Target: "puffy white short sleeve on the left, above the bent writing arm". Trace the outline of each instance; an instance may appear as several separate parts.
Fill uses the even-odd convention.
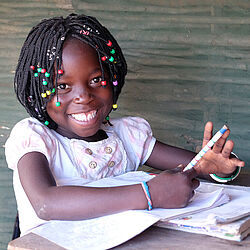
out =
[[[55,143],[49,129],[34,118],[18,122],[5,143],[5,156],[8,167],[15,170],[18,161],[29,152],[40,152],[51,163]]]

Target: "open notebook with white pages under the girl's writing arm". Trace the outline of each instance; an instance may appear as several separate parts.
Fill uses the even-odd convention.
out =
[[[154,176],[145,172],[130,172],[105,178],[88,186],[111,187],[147,181]],[[180,209],[130,210],[82,221],[48,221],[34,230],[36,233],[66,249],[109,249],[133,238],[160,220],[174,219],[222,205],[229,201],[223,188],[196,192],[190,204]]]

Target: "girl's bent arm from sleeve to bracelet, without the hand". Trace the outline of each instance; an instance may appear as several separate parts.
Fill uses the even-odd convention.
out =
[[[56,186],[46,157],[27,153],[18,162],[21,184],[41,219],[78,220],[146,209],[141,185],[112,188]]]

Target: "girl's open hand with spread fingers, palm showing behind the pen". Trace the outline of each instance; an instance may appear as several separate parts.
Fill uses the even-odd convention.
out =
[[[244,167],[245,163],[237,158],[230,158],[234,142],[227,140],[230,130],[227,130],[222,137],[214,144],[203,158],[195,165],[198,174],[223,174],[228,175],[235,171],[236,167]],[[204,147],[213,135],[213,123],[207,122],[204,129],[202,147]]]

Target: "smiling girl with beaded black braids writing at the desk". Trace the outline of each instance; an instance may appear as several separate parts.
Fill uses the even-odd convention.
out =
[[[48,220],[183,207],[199,185],[197,176],[216,173],[232,179],[244,166],[230,158],[233,142],[226,142],[227,131],[195,169],[162,172],[145,186],[84,187],[142,164],[170,170],[187,165],[195,155],[156,141],[141,118],[109,120],[126,73],[119,45],[93,17],[43,20],[29,33],[15,91],[31,118],[17,123],[6,142],[22,234]],[[203,145],[211,136],[208,122]]]

